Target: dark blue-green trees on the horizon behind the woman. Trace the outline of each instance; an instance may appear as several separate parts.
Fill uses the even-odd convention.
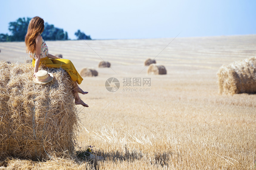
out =
[[[19,18],[14,22],[9,23],[9,31],[11,35],[8,34],[0,34],[0,42],[11,42],[11,41],[24,41],[27,28],[29,25],[29,21],[32,18]],[[68,33],[64,31],[62,28],[56,28],[52,24],[44,23],[44,31],[41,34],[44,40],[68,40]],[[79,39],[91,39],[90,35],[86,35],[85,33],[77,30],[75,33],[77,36],[77,40]]]

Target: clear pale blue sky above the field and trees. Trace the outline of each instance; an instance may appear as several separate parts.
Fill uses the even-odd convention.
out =
[[[18,18],[40,16],[71,39],[78,29],[92,39],[256,34],[255,7],[255,0],[1,0],[0,33]]]

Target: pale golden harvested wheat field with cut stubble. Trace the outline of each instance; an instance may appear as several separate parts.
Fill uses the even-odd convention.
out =
[[[256,35],[172,40],[46,41],[50,54],[63,54],[78,71],[111,61],[79,85],[89,92],[80,95],[89,108],[77,106],[74,144],[81,151],[93,147],[96,159],[8,157],[1,168],[256,169],[256,96],[219,94],[217,77],[222,65],[256,56]],[[0,43],[0,49],[1,60],[28,58],[24,42]],[[167,74],[147,74],[147,58]],[[115,80],[110,77],[120,82],[118,90],[108,82],[115,92],[105,88]]]

